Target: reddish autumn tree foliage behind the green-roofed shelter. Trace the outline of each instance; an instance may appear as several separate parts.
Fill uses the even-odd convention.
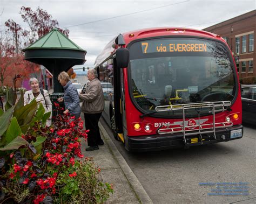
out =
[[[0,42],[1,86],[6,85],[5,81],[10,81],[15,74],[21,74],[24,79],[28,78],[31,73],[39,71],[38,65],[24,60],[23,48],[35,43],[38,38],[50,32],[54,27],[66,36],[69,34],[69,30],[60,29],[57,20],[52,19],[48,12],[39,7],[33,11],[29,7],[22,6],[19,13],[23,21],[28,23],[30,30],[23,29],[11,19],[5,22],[6,31],[4,36],[1,36]],[[11,86],[10,83],[9,86]]]

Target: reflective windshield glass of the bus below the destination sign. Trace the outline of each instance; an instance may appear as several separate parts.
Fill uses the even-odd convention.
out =
[[[233,100],[231,62],[221,53],[134,59],[130,67],[134,101],[146,112],[158,105]]]

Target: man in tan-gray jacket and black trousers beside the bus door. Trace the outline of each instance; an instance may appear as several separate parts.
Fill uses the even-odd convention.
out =
[[[82,112],[84,112],[84,122],[88,133],[87,142],[90,147],[86,151],[98,150],[98,145],[103,145],[104,142],[99,133],[99,118],[104,110],[104,97],[100,81],[97,78],[98,74],[95,69],[89,69],[87,78],[90,81],[85,93],[79,94],[80,99],[83,100]]]

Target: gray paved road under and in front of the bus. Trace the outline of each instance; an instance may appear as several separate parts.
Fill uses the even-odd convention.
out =
[[[103,119],[102,124],[112,135]],[[226,143],[159,152],[130,153],[112,139],[154,203],[256,203],[256,128]],[[111,137],[113,138],[113,137]],[[248,195],[208,195],[220,186],[248,182]],[[235,188],[233,185],[233,188]],[[224,187],[220,187],[224,190]],[[228,189],[231,189],[228,187]]]

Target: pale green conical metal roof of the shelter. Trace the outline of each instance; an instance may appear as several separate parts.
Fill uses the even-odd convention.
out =
[[[85,51],[78,45],[73,43],[68,37],[61,33],[58,29],[52,29],[49,33],[39,38],[35,43],[25,48],[23,51],[37,48],[45,49],[65,49]]]

